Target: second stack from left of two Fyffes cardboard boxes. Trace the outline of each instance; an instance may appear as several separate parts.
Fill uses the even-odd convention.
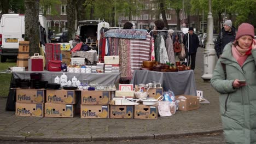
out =
[[[76,95],[74,90],[50,90],[46,91],[46,103],[44,104],[45,117],[74,117],[74,104]]]

